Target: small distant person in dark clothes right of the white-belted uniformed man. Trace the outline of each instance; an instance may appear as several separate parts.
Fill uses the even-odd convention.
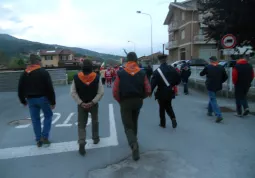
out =
[[[186,61],[184,61],[184,63],[181,65],[181,79],[184,86],[185,95],[189,94],[188,83],[190,75],[191,75],[190,66]]]

